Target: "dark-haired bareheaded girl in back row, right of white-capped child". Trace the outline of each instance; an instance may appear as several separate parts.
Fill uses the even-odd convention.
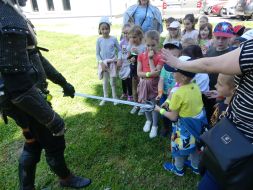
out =
[[[185,15],[183,19],[184,30],[182,32],[182,40],[192,38],[194,41],[198,39],[198,30],[195,30],[195,18],[193,14]]]

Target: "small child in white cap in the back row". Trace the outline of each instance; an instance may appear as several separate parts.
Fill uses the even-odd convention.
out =
[[[173,21],[168,27],[168,31],[169,31],[169,34],[165,38],[163,44],[172,40],[181,41],[181,28],[180,28],[180,23],[178,21]]]

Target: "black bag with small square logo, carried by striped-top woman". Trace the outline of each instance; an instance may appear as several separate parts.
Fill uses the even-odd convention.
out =
[[[226,190],[253,189],[253,144],[223,117],[201,135],[206,144],[200,165]]]

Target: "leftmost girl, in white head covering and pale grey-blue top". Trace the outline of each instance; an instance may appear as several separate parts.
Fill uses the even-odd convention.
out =
[[[117,38],[110,36],[110,21],[108,17],[102,17],[99,21],[98,32],[101,37],[96,43],[96,57],[98,61],[99,79],[103,78],[104,97],[108,97],[108,81],[112,88],[112,97],[116,96],[116,71],[117,71],[117,54],[120,54],[120,47]],[[99,105],[103,106],[105,101],[102,100]],[[117,103],[114,103],[116,105]]]

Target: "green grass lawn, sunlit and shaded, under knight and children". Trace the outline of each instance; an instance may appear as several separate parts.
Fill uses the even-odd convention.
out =
[[[80,37],[39,32],[43,53],[72,83],[77,92],[102,95],[102,82],[97,78],[95,42],[97,36]],[[117,82],[118,95],[121,94]],[[49,85],[54,109],[64,118],[66,133],[66,161],[75,174],[92,179],[87,190],[192,190],[199,177],[187,170],[184,177],[166,172],[162,163],[170,160],[169,141],[150,139],[142,131],[145,119],[131,115],[131,107],[98,101],[62,97],[60,87]],[[18,157],[24,138],[10,119],[0,123],[0,189],[18,189]],[[161,126],[161,125],[160,125]],[[49,170],[44,154],[36,173],[38,189],[60,189],[57,177]]]

